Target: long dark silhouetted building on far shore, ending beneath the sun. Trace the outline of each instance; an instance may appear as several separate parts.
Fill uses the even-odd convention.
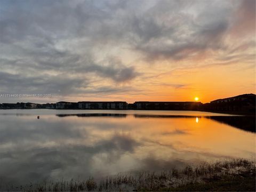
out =
[[[150,102],[137,101],[134,102],[134,109],[140,110],[199,110],[202,107],[201,102]]]

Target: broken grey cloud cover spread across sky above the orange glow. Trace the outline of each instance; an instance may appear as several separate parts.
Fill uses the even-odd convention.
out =
[[[0,86],[4,91],[26,86],[60,97],[86,94],[86,87],[97,92],[95,82],[103,81],[101,87],[115,87],[119,94],[127,83],[144,93],[147,88],[138,82],[153,83],[150,73],[255,62],[251,0],[27,0],[1,1],[0,6],[0,69],[12,78]]]

